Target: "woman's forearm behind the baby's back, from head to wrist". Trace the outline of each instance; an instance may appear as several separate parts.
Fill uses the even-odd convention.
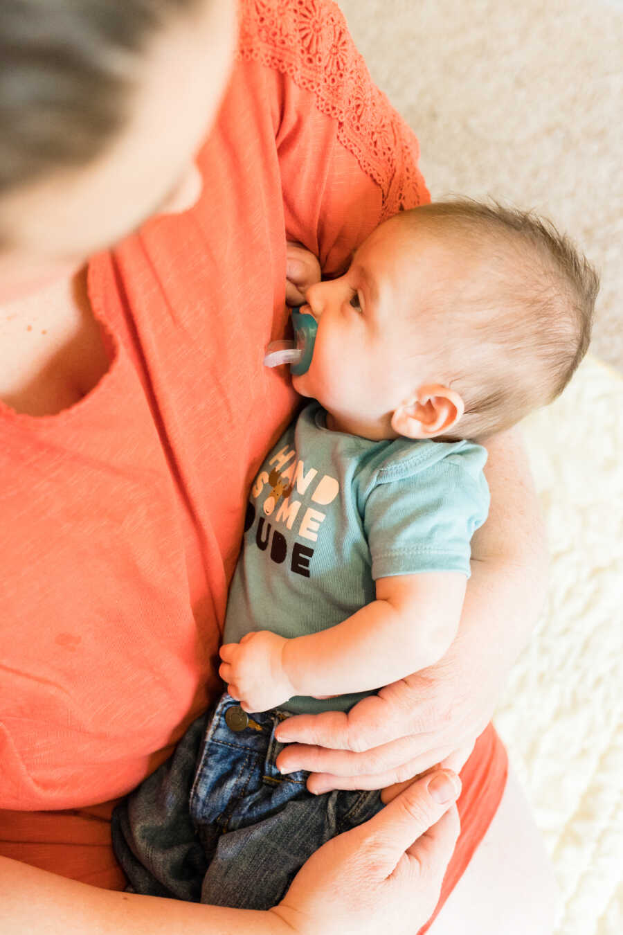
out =
[[[488,520],[472,539],[472,577],[455,640],[479,645],[502,678],[530,638],[545,600],[545,522],[519,431],[487,442]]]

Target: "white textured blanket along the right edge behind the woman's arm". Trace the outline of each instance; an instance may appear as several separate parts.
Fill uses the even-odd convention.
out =
[[[623,380],[589,357],[522,428],[550,587],[495,722],[557,874],[557,935],[621,935]]]

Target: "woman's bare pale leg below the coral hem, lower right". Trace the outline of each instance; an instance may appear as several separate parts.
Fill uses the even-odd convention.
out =
[[[429,935],[551,935],[556,900],[541,835],[509,769],[500,807]]]

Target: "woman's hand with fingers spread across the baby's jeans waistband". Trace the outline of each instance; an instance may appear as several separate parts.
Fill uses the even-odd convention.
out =
[[[381,688],[347,713],[288,718],[276,727],[276,739],[294,742],[278,755],[278,769],[312,771],[307,788],[316,793],[381,789],[437,764],[460,770],[501,687],[501,672],[477,663],[455,640],[434,666]]]

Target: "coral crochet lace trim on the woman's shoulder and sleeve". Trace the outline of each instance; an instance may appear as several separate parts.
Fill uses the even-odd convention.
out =
[[[337,122],[337,138],[380,187],[381,220],[428,201],[418,140],[375,87],[331,0],[246,0],[238,57],[287,74]]]

